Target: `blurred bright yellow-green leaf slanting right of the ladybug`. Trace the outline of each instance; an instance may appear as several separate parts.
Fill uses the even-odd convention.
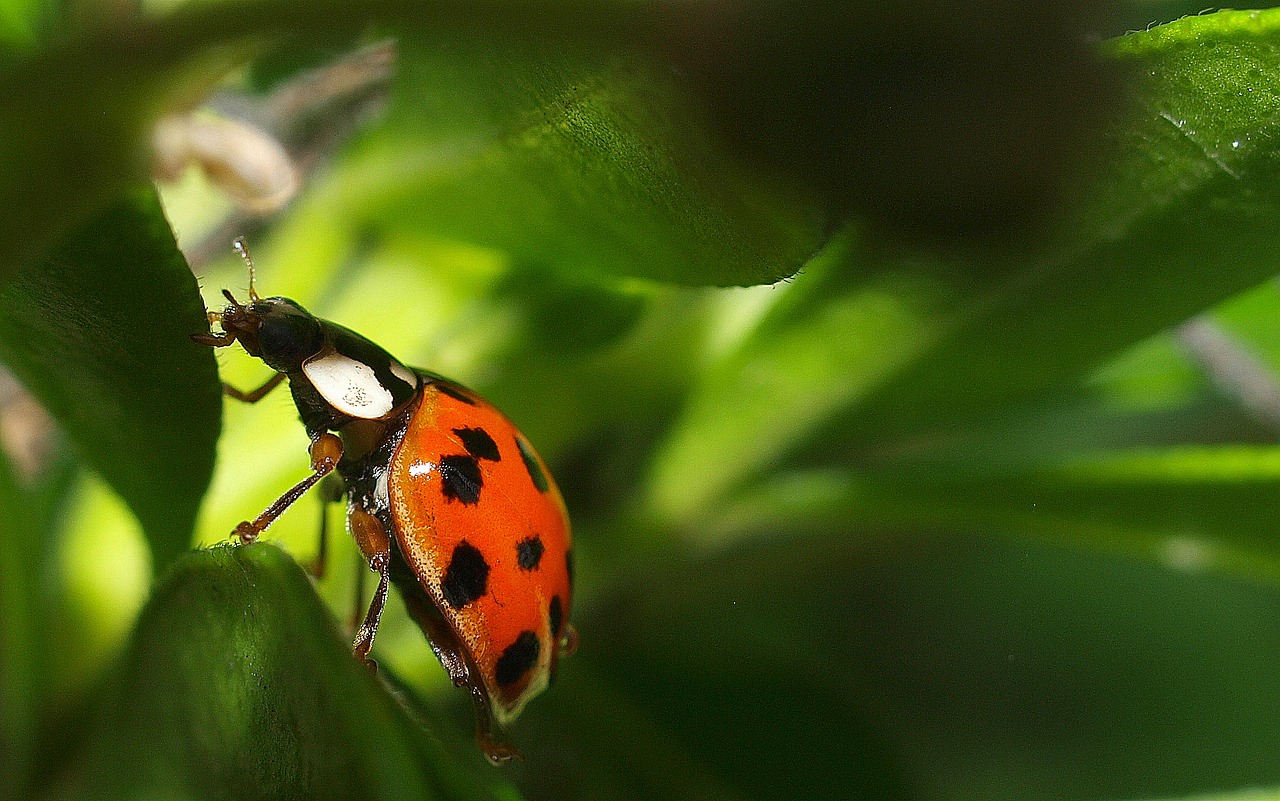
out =
[[[790,324],[762,319],[735,349],[696,375],[694,392],[653,458],[652,508],[696,528],[739,481],[780,459],[931,344],[937,292],[910,280],[868,282],[841,292],[822,278],[841,262],[841,252],[827,253],[805,269],[806,279],[817,276],[815,292],[826,302],[809,306]],[[804,289],[769,292],[777,297]],[[787,301],[783,296],[773,302]]]

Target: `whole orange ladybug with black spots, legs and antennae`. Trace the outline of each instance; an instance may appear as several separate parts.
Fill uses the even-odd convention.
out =
[[[476,706],[476,738],[494,763],[518,756],[494,737],[547,688],[570,624],[573,540],[564,502],[524,434],[490,403],[434,372],[407,367],[365,337],[288,298],[261,298],[250,270],[248,302],[209,312],[223,348],[239,342],[275,370],[262,386],[227,394],[256,403],[288,381],[311,438],[312,473],[233,536],[252,543],[330,473],[342,480],[347,526],[378,589],[355,637],[369,659],[390,583],[431,650]],[[338,495],[340,498],[340,495]],[[321,553],[324,537],[321,530]]]

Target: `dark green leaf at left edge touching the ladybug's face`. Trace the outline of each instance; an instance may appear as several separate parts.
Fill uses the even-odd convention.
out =
[[[0,285],[0,361],[142,523],[157,568],[189,544],[221,398],[196,279],[148,188]]]

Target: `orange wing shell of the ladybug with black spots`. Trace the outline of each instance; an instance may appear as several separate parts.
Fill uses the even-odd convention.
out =
[[[502,412],[426,376],[388,490],[401,553],[494,718],[512,720],[550,682],[570,628],[573,540],[550,472]]]

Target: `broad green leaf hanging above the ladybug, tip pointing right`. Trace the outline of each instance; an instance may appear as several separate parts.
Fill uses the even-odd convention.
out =
[[[401,56],[344,179],[384,225],[681,284],[771,283],[822,243],[817,202],[736,160],[637,50],[433,37]]]

